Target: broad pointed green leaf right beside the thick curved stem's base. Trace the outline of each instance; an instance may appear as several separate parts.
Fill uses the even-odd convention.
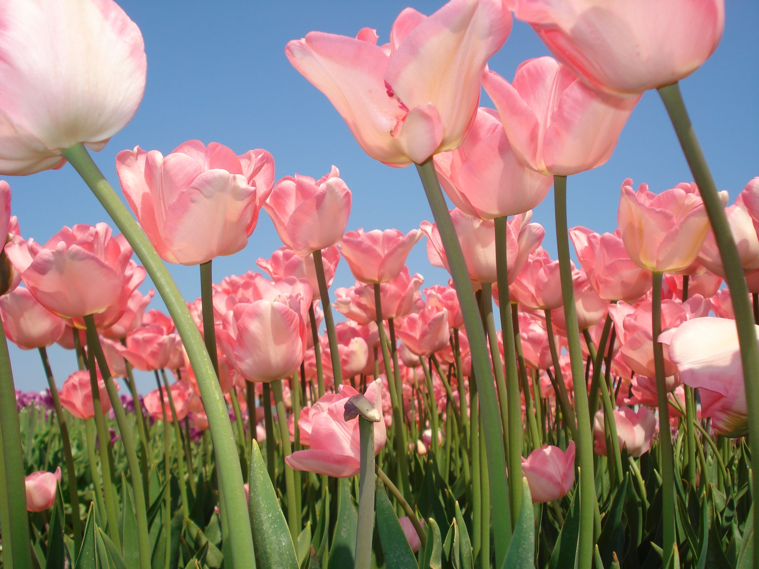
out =
[[[298,558],[288,530],[285,514],[279,505],[272,480],[266,470],[258,443],[253,441],[248,475],[250,528],[256,552],[257,567],[292,567],[298,569]]]

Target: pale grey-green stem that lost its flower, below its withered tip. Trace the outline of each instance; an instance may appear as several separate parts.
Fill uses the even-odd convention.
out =
[[[358,522],[354,569],[369,569],[374,531],[374,423],[359,415],[361,478],[358,485]]]

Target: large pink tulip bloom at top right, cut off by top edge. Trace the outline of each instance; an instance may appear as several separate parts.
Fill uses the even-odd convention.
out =
[[[642,93],[688,77],[716,49],[725,25],[723,0],[509,4],[553,55],[606,93]]]

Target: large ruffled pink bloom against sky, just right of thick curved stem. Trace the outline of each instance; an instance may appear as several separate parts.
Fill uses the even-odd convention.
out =
[[[262,149],[235,156],[219,143],[188,140],[168,156],[122,150],[116,172],[161,258],[198,265],[245,247],[272,190],[274,159]]]

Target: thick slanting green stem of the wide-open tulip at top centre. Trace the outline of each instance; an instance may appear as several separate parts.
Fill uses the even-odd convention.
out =
[[[424,186],[424,192],[427,194],[427,201],[430,203],[440,239],[446,250],[446,258],[458,294],[458,302],[461,305],[461,314],[464,317],[469,339],[474,377],[478,382],[477,388],[483,394],[480,407],[482,409],[483,436],[488,454],[487,467],[490,471],[490,499],[493,504],[496,567],[500,567],[506,557],[506,551],[509,549],[512,524],[509,514],[511,509],[509,508],[509,483],[506,478],[506,457],[503,450],[504,433],[500,424],[496,388],[493,385],[495,383],[493,369],[490,367],[490,356],[487,353],[485,329],[480,319],[477,300],[474,298],[464,253],[461,252],[461,244],[458,242],[453,227],[448,204],[442,196],[442,189],[437,180],[432,159],[417,164],[417,171]],[[474,447],[474,442],[472,447]]]

